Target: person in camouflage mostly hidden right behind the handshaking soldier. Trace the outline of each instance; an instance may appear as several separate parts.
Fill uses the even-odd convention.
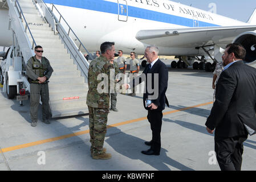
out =
[[[111,107],[110,107],[110,110],[112,110],[112,111],[115,111],[115,112],[117,112],[118,111],[118,109],[116,109],[116,96],[117,96],[117,93],[116,93],[116,91],[115,91],[115,84],[117,83],[117,82],[119,82],[119,78],[116,78],[116,76],[117,76],[117,74],[119,73],[119,68],[118,68],[118,65],[117,65],[117,63],[114,61],[114,58],[113,59],[111,59],[110,61],[109,61],[112,65],[113,65],[113,67],[114,67],[114,69],[111,69],[111,71],[113,71],[114,73],[113,73],[113,76],[115,76],[115,78],[112,78],[110,81],[112,82],[112,88],[113,88],[113,90],[112,90],[112,92],[111,92]]]

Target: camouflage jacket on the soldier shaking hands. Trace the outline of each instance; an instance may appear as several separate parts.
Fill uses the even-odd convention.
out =
[[[113,65],[102,55],[91,61],[88,71],[88,106],[109,108],[110,69],[113,69]]]

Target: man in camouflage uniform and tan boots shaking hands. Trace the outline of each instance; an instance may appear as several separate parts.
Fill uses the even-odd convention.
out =
[[[109,113],[109,88],[101,85],[107,77],[107,84],[110,80],[110,69],[113,65],[110,59],[115,57],[115,43],[104,42],[100,46],[101,55],[90,63],[88,71],[88,94],[86,104],[89,109],[90,118],[90,142],[93,159],[110,159],[111,154],[106,154],[103,148],[105,134],[107,133],[107,119]],[[99,80],[100,78],[100,80]],[[98,86],[99,85],[99,86]],[[104,89],[106,92],[102,92]]]

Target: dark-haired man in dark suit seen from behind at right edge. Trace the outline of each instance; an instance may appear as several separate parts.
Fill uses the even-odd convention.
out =
[[[216,101],[205,123],[210,134],[215,129],[215,151],[222,171],[241,170],[243,142],[256,130],[256,69],[243,63],[245,55],[240,44],[227,45]]]

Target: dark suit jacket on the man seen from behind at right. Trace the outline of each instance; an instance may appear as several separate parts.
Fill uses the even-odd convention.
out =
[[[216,101],[205,123],[216,137],[247,135],[244,126],[256,130],[256,69],[238,61],[221,73]]]

